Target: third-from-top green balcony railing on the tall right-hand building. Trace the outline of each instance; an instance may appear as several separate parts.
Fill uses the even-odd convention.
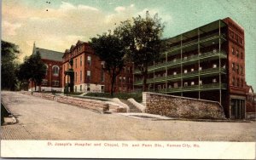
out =
[[[166,77],[154,77],[154,78],[148,78],[147,83],[161,83],[161,82],[166,82],[166,81],[177,81],[181,78],[183,79],[190,79],[190,78],[195,78],[195,77],[212,77],[214,75],[218,75],[219,73],[221,74],[226,74],[226,69],[225,68],[208,68],[205,70],[201,71],[190,71],[187,73],[179,73],[176,75],[169,75]],[[134,83],[134,85],[142,85],[143,81],[137,81]]]

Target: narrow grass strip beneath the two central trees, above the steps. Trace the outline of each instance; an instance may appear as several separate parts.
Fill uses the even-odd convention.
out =
[[[105,98],[119,98],[121,100],[127,100],[133,98],[137,102],[141,103],[143,101],[142,93],[116,93],[111,96],[109,93],[88,93],[86,96],[92,97],[105,97]]]

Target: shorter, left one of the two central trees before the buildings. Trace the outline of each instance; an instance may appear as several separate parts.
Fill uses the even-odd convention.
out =
[[[125,46],[124,43],[115,34],[111,34],[111,31],[104,33],[102,36],[91,38],[90,47],[95,50],[96,55],[104,61],[105,71],[111,79],[111,91],[113,96],[114,83],[116,77],[119,75],[125,66]]]

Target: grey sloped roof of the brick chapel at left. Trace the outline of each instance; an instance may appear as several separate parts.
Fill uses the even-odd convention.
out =
[[[35,48],[35,51],[33,52],[33,54],[36,54],[37,52],[41,54],[41,58],[44,60],[62,61],[63,53],[61,52],[57,52],[49,49]]]

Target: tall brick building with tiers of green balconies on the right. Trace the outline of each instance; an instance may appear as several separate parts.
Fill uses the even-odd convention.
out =
[[[148,67],[148,89],[218,101],[226,117],[246,116],[244,31],[230,18],[163,40],[159,61]],[[135,74],[135,88],[142,77]]]

